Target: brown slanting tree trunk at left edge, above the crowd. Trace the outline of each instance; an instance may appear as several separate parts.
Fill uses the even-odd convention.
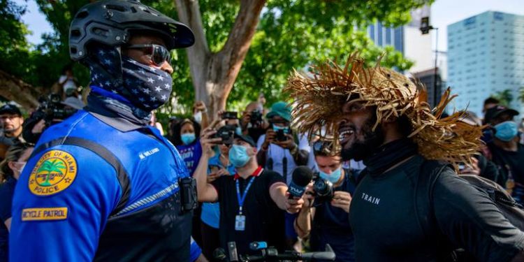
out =
[[[15,101],[29,111],[38,107],[39,103],[36,97],[42,94],[41,87],[33,87],[27,82],[15,78],[15,76],[1,70],[0,86],[0,96],[3,96],[10,101]]]

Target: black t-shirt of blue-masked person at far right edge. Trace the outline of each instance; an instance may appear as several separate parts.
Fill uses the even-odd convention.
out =
[[[499,167],[500,179],[497,180],[497,183],[506,187],[508,173],[511,170],[515,182],[524,185],[524,146],[518,144],[516,152],[502,150],[493,144],[488,144],[488,147],[493,163]]]

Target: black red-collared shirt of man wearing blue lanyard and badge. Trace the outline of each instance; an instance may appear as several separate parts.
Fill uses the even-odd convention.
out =
[[[240,195],[244,194],[249,180],[254,179],[247,191],[242,207],[245,215],[245,231],[235,231],[235,216],[238,214],[238,198],[235,176],[219,177],[212,183],[218,192],[220,203],[220,246],[227,249],[227,242],[235,241],[238,254],[256,254],[249,249],[254,241],[268,242],[268,246],[284,248],[284,210],[272,201],[269,189],[272,184],[284,182],[282,175],[270,170],[263,170],[257,177],[244,180],[238,177]]]

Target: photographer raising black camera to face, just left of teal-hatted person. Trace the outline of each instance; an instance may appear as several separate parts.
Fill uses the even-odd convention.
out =
[[[246,110],[242,112],[240,117],[240,127],[242,132],[258,141],[259,138],[265,134],[269,124],[263,119],[263,106],[259,102],[251,102],[247,105]]]

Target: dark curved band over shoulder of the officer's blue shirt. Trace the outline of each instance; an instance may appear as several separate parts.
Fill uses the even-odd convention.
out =
[[[107,148],[103,147],[98,143],[94,143],[91,140],[78,137],[66,137],[57,138],[49,141],[48,143],[39,145],[38,147],[36,147],[35,150],[33,150],[31,157],[34,157],[36,154],[57,145],[75,145],[78,147],[84,147],[85,149],[99,155],[99,157],[103,158],[113,168],[115,168],[118,182],[120,184],[120,187],[122,188],[122,197],[120,198],[120,201],[117,203],[116,208],[112,210],[110,216],[112,216],[113,214],[117,214],[120,210],[126,207],[127,201],[129,201],[129,196],[131,195],[131,183],[129,183],[129,175],[124,169],[124,166],[122,166],[122,163],[120,163],[117,157],[115,157],[115,154],[112,154]]]

